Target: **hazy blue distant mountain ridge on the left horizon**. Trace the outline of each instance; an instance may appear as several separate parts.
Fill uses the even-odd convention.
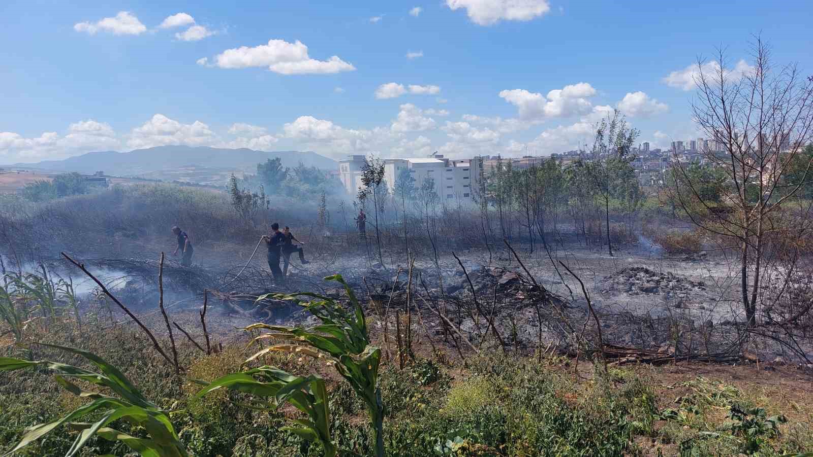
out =
[[[283,166],[315,166],[322,170],[336,170],[337,162],[312,151],[263,152],[252,149],[217,149],[191,146],[158,146],[149,149],[136,149],[128,153],[102,151],[86,153],[64,160],[39,163],[18,163],[16,167],[27,167],[48,171],[76,171],[93,173],[104,171],[107,175],[135,176],[161,170],[172,170],[188,166],[220,168],[227,170],[254,170],[259,162],[280,157]]]

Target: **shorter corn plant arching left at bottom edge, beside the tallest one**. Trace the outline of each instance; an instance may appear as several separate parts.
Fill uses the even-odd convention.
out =
[[[319,444],[322,446],[325,457],[337,455],[336,443],[330,438],[328,390],[324,386],[322,377],[317,375],[293,376],[293,374],[275,367],[263,366],[215,379],[196,396],[200,398],[221,388],[259,397],[253,404],[248,405],[253,409],[272,411],[285,402],[293,404],[294,407],[305,412],[309,419],[294,419],[296,426],[283,429],[297,434],[302,439]],[[265,399],[272,399],[273,404],[268,403]]]

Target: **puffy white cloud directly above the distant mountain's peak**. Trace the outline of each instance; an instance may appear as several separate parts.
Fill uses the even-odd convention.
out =
[[[163,114],[155,114],[141,127],[133,128],[127,144],[133,149],[143,149],[168,144],[207,146],[215,144],[216,140],[215,133],[205,123],[195,121],[185,124]]]

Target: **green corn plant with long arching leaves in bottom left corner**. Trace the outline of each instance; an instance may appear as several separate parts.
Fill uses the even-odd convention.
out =
[[[54,347],[63,351],[71,352],[85,357],[102,373],[81,369],[72,365],[52,362],[49,360],[28,361],[13,359],[10,357],[0,357],[0,371],[12,371],[15,369],[25,369],[40,367],[55,373],[56,381],[64,389],[72,394],[85,399],[90,399],[90,403],[76,408],[69,412],[67,416],[47,424],[34,425],[29,427],[23,434],[20,442],[9,452],[9,455],[28,446],[37,439],[42,438],[51,430],[61,425],[67,425],[71,429],[78,431],[76,440],[67,451],[66,457],[78,455],[82,446],[93,437],[98,435],[111,442],[123,442],[131,450],[138,452],[145,457],[188,457],[183,444],[178,439],[178,434],[172,428],[168,413],[146,399],[137,390],[127,377],[105,360],[88,351],[81,351],[72,347],[56,346],[53,344],[39,343],[42,346]],[[89,382],[97,386],[107,387],[118,394],[119,398],[81,390],[79,386],[68,381],[68,378],[76,378]],[[76,422],[76,420],[88,416],[92,413],[101,412],[102,416],[93,423]],[[135,427],[146,430],[150,438],[137,438],[122,433],[119,430],[111,429],[110,425],[114,420],[127,420]]]

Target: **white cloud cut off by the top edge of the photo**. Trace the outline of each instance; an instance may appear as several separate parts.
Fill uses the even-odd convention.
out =
[[[480,25],[500,20],[527,21],[550,11],[548,0],[446,0],[453,11],[465,8],[469,19]]]

